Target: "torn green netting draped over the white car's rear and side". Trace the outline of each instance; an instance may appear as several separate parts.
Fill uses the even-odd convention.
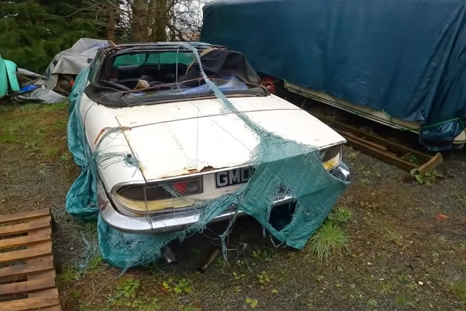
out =
[[[188,44],[180,45],[191,49],[197,63],[201,64],[196,49]],[[96,151],[91,152],[86,142],[80,111],[80,100],[88,79],[88,69],[83,70],[77,77],[70,95],[68,147],[75,163],[81,166],[82,173],[67,193],[67,211],[84,220],[97,219],[102,258],[124,270],[158,260],[162,248],[170,241],[183,240],[195,232],[202,231],[211,220],[233,205],[238,211],[243,211],[257,219],[264,229],[284,245],[303,248],[348,185],[333,177],[324,168],[317,148],[283,139],[252,122],[247,115],[238,112],[232,102],[207,78],[202,66],[199,67],[204,81],[216,95],[215,100],[223,103],[223,111],[238,115],[245,126],[256,134],[259,144],[251,152],[250,163],[245,164],[254,168],[254,174],[246,184],[231,194],[215,199],[199,200],[184,196],[168,183],[162,184],[172,196],[189,202],[193,209],[199,211],[199,220],[181,231],[162,234],[127,233],[108,226],[102,220],[97,203],[99,167],[124,164],[133,166],[137,170],[144,164],[138,162],[131,150],[128,150],[128,153],[115,154],[107,152],[102,147],[105,146],[106,140],[112,139],[112,135],[121,134],[127,130],[125,128],[106,129],[100,137]],[[309,135],[318,134],[309,133]],[[269,223],[274,195],[279,189],[297,199],[292,220],[280,230]],[[146,212],[145,217],[150,221],[150,213]],[[235,218],[234,215],[228,229],[220,236],[224,254],[225,237]]]

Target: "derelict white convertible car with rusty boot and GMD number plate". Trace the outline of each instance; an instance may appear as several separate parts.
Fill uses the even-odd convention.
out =
[[[241,113],[266,131],[315,146],[322,165],[349,181],[341,164],[345,139],[316,117],[271,95],[241,53],[192,43],[207,76]],[[189,227],[199,211],[159,186],[169,182],[186,196],[211,199],[247,182],[257,135],[200,77],[191,50],[178,43],[118,44],[100,49],[89,68],[80,112],[87,143],[101,160],[98,202],[102,220],[133,233]],[[108,129],[119,131],[108,133]],[[121,158],[121,159],[123,159]],[[128,164],[137,159],[139,166]],[[116,158],[115,158],[116,159]],[[144,191],[144,188],[146,191]],[[294,198],[277,193],[274,206]],[[235,206],[213,221],[229,219]]]

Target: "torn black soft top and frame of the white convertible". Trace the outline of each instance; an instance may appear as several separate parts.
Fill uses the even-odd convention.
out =
[[[187,66],[186,71],[177,77],[176,81],[157,82],[154,85],[150,84],[151,86],[144,90],[130,89],[126,85],[107,80],[104,73],[110,59],[114,59],[119,54],[141,52],[180,51],[192,53],[192,49],[188,49],[179,42],[125,43],[104,48],[105,60],[101,64],[104,68],[103,73],[100,69],[99,78],[89,83],[84,89],[84,93],[96,103],[112,108],[181,101],[187,98],[215,98],[215,92],[210,88],[195,93],[185,94],[183,92],[183,90],[188,91],[189,88],[205,83],[202,71],[208,78],[222,80],[222,77],[234,76],[244,85],[247,85],[245,88],[224,90],[222,93],[227,97],[267,96],[270,94],[261,85],[259,75],[242,53],[201,42],[188,42],[188,44],[198,50],[201,64],[198,64],[196,60]]]

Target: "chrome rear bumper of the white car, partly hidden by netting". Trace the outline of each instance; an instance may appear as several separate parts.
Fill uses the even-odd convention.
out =
[[[339,180],[350,182],[350,171],[348,166],[343,162],[332,170],[332,175]],[[99,182],[97,187],[97,196],[102,220],[109,226],[124,232],[130,233],[165,233],[179,231],[189,228],[195,224],[200,217],[199,211],[186,209],[183,211],[173,211],[173,213],[164,213],[161,215],[147,217],[131,217],[120,214],[113,207],[108,199],[102,184]],[[284,196],[275,201],[273,206],[278,206],[293,201],[293,197]],[[243,211],[237,211],[236,206],[232,205],[223,213],[216,216],[211,223],[228,220],[237,213],[237,216],[244,215]]]

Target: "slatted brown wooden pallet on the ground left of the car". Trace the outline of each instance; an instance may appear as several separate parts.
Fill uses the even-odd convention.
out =
[[[49,209],[0,215],[0,310],[61,311]]]

